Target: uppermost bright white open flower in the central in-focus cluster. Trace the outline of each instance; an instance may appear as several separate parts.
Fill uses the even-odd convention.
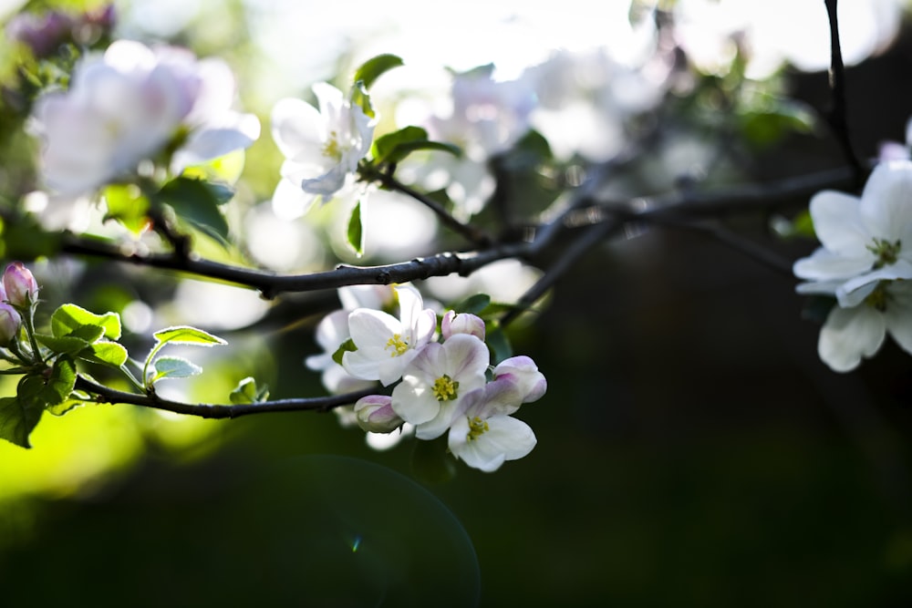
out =
[[[348,331],[358,350],[342,356],[342,366],[352,376],[379,380],[389,386],[402,377],[411,360],[428,345],[437,328],[437,315],[422,309],[421,294],[411,285],[396,287],[399,318],[370,308],[348,315]]]

